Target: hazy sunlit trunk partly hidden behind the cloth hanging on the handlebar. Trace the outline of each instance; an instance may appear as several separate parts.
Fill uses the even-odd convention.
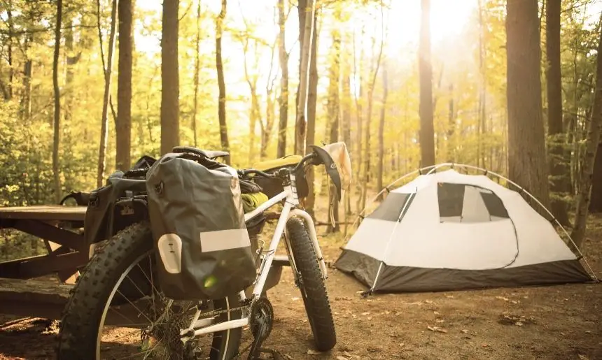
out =
[[[328,73],[328,122],[330,122],[330,143],[339,141],[339,75],[341,57],[341,34],[336,28],[332,29],[332,48],[330,48],[330,71]],[[328,175],[324,175],[324,181],[330,182]],[[328,233],[339,232],[339,201],[336,188],[330,184],[330,199],[328,202],[328,214],[332,218],[328,222]],[[334,225],[332,224],[334,222]]]

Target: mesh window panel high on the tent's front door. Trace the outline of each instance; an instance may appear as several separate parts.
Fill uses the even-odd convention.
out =
[[[441,222],[491,222],[509,218],[502,200],[483,187],[439,182],[437,200]]]

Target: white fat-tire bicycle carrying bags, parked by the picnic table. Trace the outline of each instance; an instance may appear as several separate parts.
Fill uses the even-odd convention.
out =
[[[186,152],[193,159],[216,159],[228,154],[204,152],[192,147],[174,150]],[[346,147],[344,155],[349,161]],[[304,171],[306,165],[325,166],[340,201],[341,175],[325,147],[313,146],[313,151],[302,157],[296,166],[285,166],[271,173],[256,169],[237,171],[241,179],[278,180],[283,188],[279,194],[245,214],[246,224],[251,224],[248,229],[256,227],[258,222],[262,224],[261,220],[265,219],[263,214],[269,208],[278,204],[282,208],[267,250],[264,250],[265,243],[251,242],[253,251],[258,254],[258,271],[253,288],[220,300],[173,301],[162,296],[153,283],[155,257],[151,227],[145,218],[148,214],[145,215],[143,211],[143,215],[139,215],[131,224],[126,222],[116,226],[116,233],[97,247],[83,269],[64,309],[57,359],[103,359],[101,343],[105,327],[110,328],[107,340],[115,343],[109,345],[111,359],[132,359],[137,355],[141,359],[239,359],[247,351],[247,359],[255,359],[272,330],[274,311],[266,296],[266,283],[276,248],[283,236],[316,348],[322,352],[332,349],[337,340],[325,287],[326,266],[314,222],[309,214],[298,208],[300,201],[295,174]],[[130,175],[140,176],[142,173],[144,167],[134,166]],[[121,214],[132,215],[136,213],[132,208],[138,206],[144,210],[145,196],[130,192],[127,199],[118,199],[116,205],[122,205],[119,207]],[[115,221],[118,220],[116,217]],[[250,234],[251,231],[258,232],[254,227],[249,230]],[[130,282],[125,282],[126,278]],[[127,295],[135,298],[130,300]],[[111,305],[113,301],[117,303]],[[141,308],[147,311],[143,313]],[[131,319],[128,315],[134,311],[141,316]],[[143,320],[148,320],[148,324],[141,322]],[[121,326],[134,328],[134,333],[124,334]],[[242,329],[247,326],[252,340],[241,349]],[[203,335],[208,337],[201,338]],[[129,341],[130,345],[123,344],[123,341]],[[120,357],[132,347],[136,347],[136,354]],[[209,353],[204,354],[205,350],[209,350]]]

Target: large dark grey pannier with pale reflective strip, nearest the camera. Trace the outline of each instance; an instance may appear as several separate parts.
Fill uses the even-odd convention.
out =
[[[146,188],[165,296],[218,299],[253,284],[255,261],[233,168],[169,153],[149,169]]]

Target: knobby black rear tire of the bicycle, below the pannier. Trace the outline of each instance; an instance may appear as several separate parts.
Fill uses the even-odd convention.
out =
[[[153,256],[153,238],[148,222],[132,224],[116,233],[98,249],[82,271],[64,308],[57,336],[57,359],[95,359],[99,322],[106,301],[123,272],[146,253]],[[157,285],[155,285],[157,287]],[[237,296],[228,298],[230,308],[238,304]],[[225,308],[226,300],[214,301],[216,308]],[[241,316],[230,312],[230,319]],[[228,319],[220,315],[218,322]],[[232,359],[238,352],[241,329],[231,329],[228,341],[225,331],[214,333],[211,359]]]

